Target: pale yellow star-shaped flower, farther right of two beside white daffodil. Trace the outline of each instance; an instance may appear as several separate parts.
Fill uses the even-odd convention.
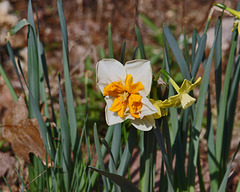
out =
[[[196,99],[191,97],[188,93],[201,83],[201,77],[199,77],[194,84],[185,79],[180,88],[172,78],[169,78],[169,81],[177,91],[177,95],[168,98],[169,102],[172,103],[174,107],[178,107],[182,104],[183,109],[186,109],[196,101]]]

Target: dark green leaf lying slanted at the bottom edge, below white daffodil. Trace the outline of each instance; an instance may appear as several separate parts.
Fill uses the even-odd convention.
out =
[[[123,176],[116,175],[113,173],[108,173],[103,170],[97,169],[95,167],[90,167],[90,168],[98,172],[99,174],[104,175],[105,177],[108,177],[110,180],[112,180],[117,185],[119,185],[121,189],[124,191],[140,192],[140,190],[133,183],[131,183],[128,179],[126,179]]]

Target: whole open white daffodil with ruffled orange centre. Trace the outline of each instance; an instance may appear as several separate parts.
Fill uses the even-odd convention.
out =
[[[125,66],[115,59],[103,59],[96,66],[97,85],[105,101],[108,125],[129,119],[139,130],[155,126],[157,109],[147,99],[152,84],[150,61],[132,60]]]

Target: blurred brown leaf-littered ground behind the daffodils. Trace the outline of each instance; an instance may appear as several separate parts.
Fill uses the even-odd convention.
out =
[[[0,15],[0,62],[7,74],[11,77],[12,84],[16,90],[20,91],[20,85],[14,75],[13,67],[10,64],[6,51],[4,38],[7,31],[16,24],[17,21],[27,16],[27,2],[9,0],[12,10],[10,14]],[[44,44],[48,65],[50,66],[50,82],[52,94],[57,94],[57,74],[63,73],[61,55],[61,31],[58,20],[57,2],[54,1],[33,1],[38,7],[38,17],[40,21],[40,36]],[[224,3],[235,8],[237,0],[70,0],[64,1],[64,13],[66,17],[69,37],[70,51],[70,71],[72,82],[79,84],[79,77],[84,75],[84,60],[90,56],[94,64],[98,61],[98,47],[105,50],[108,47],[107,26],[112,24],[114,54],[117,59],[120,57],[122,43],[126,41],[126,60],[132,57],[132,49],[137,46],[134,32],[134,25],[137,24],[143,36],[144,44],[157,46],[151,37],[153,32],[141,21],[139,15],[145,14],[154,21],[159,29],[163,23],[167,26],[174,26],[175,36],[182,33],[185,27],[186,33],[191,34],[194,28],[203,31],[210,8],[216,2]],[[33,3],[33,4],[34,4]],[[0,10],[0,14],[1,14]],[[214,19],[219,13],[214,14]],[[214,23],[214,21],[212,22]],[[16,54],[21,58],[23,70],[26,71],[26,29],[19,32],[16,37],[10,39]],[[92,74],[91,74],[92,75]],[[81,85],[79,85],[81,86]],[[0,77],[0,125],[13,103],[11,95],[6,88],[2,77]],[[83,95],[82,92],[75,93],[75,96]],[[214,102],[214,101],[213,101]],[[239,107],[237,108],[239,116]],[[239,124],[237,125],[239,126]],[[234,149],[239,138],[238,130],[233,138]],[[1,141],[1,135],[0,135]],[[204,145],[203,145],[204,146]],[[204,152],[203,152],[204,153]],[[238,158],[239,159],[239,158]],[[7,153],[0,153],[0,173],[12,178],[12,183],[16,183],[13,164],[15,160],[9,150]],[[5,160],[5,161],[3,161]],[[3,164],[4,165],[3,165]],[[206,163],[205,163],[206,164]],[[203,157],[203,166],[204,157]],[[11,166],[10,166],[11,165]],[[136,165],[137,166],[137,165]],[[22,166],[23,167],[23,166]],[[5,169],[3,169],[5,168]],[[207,173],[207,166],[204,166]],[[238,166],[239,168],[239,166]],[[135,170],[135,169],[133,169]],[[206,174],[207,175],[207,174]],[[233,178],[234,183],[239,176]],[[2,182],[2,180],[1,180]]]

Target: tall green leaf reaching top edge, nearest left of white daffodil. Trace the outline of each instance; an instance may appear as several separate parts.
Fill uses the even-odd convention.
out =
[[[71,136],[71,145],[73,148],[74,156],[76,156],[77,151],[77,121],[74,108],[74,100],[72,93],[71,78],[69,73],[69,56],[68,56],[68,37],[67,37],[67,26],[66,20],[62,7],[62,0],[57,1],[58,14],[60,19],[60,26],[62,31],[62,47],[63,47],[63,67],[64,67],[64,80],[65,80],[65,90],[67,98],[67,111],[68,111],[68,120],[70,125],[70,136]]]

